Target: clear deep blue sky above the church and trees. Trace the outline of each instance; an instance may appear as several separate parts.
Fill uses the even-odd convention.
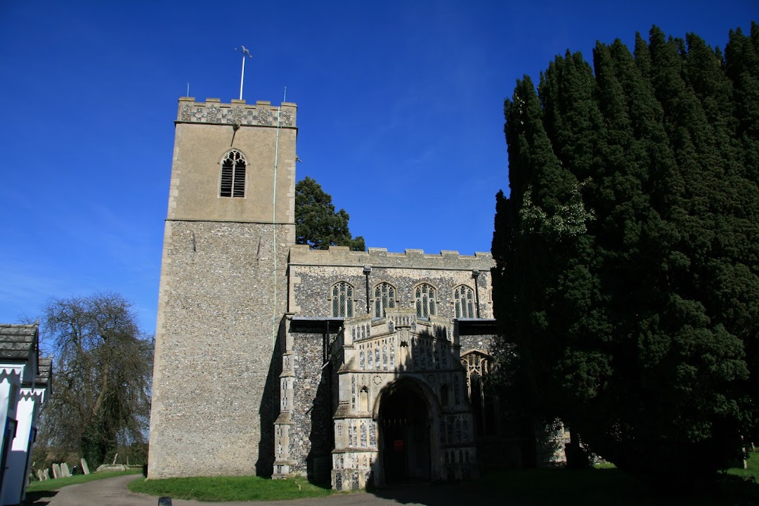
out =
[[[566,49],[657,24],[723,47],[723,2],[0,1],[0,322],[115,291],[154,332],[177,99],[298,103],[298,179],[369,247],[490,251],[503,100]]]

